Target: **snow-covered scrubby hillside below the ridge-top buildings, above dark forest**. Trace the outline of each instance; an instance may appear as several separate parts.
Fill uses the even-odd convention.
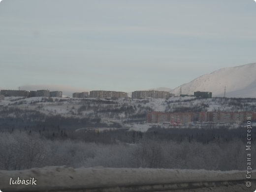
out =
[[[0,110],[14,109],[12,113],[8,114],[9,117],[15,117],[16,109],[32,110],[49,116],[100,118],[100,122],[107,126],[120,124],[123,128],[142,132],[154,126],[146,124],[146,114],[152,111],[255,111],[255,106],[256,99],[196,99],[190,96],[170,97],[169,99],[122,98],[117,100],[106,100],[104,98],[5,97],[4,100],[0,100]],[[163,125],[157,124],[155,126]],[[232,127],[235,128],[236,125]]]

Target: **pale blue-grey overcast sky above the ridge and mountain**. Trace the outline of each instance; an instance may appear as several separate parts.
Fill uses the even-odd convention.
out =
[[[2,0],[0,88],[174,89],[255,63],[255,23],[254,0]]]

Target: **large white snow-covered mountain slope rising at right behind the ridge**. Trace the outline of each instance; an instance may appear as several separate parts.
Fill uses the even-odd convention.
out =
[[[210,74],[202,75],[172,91],[175,95],[193,95],[195,91],[212,92],[213,96],[256,97],[256,63],[222,68]]]

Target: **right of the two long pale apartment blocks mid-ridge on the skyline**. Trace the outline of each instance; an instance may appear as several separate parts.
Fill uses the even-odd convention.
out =
[[[174,96],[174,94],[164,91],[134,91],[131,94],[132,98],[169,98],[170,96]]]

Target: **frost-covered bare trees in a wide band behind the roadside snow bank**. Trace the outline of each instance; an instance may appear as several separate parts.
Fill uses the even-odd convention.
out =
[[[256,148],[256,144],[252,148]],[[0,151],[0,169],[3,170],[48,165],[208,170],[246,168],[245,145],[239,139],[203,144],[156,137],[142,138],[135,143],[103,144],[68,138],[46,139],[38,133],[13,131],[0,134]],[[252,151],[252,156],[256,157],[256,151]]]

